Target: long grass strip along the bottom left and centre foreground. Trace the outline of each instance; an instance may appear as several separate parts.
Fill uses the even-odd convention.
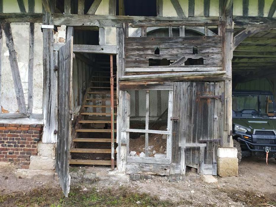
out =
[[[20,207],[85,207],[85,206],[118,206],[118,207],[147,207],[147,206],[181,206],[191,205],[190,201],[173,203],[169,200],[160,200],[145,193],[131,192],[129,189],[120,187],[116,190],[108,189],[97,191],[95,188],[87,191],[80,191],[77,186],[72,186],[68,198],[65,198],[59,188],[41,187],[28,193],[17,193],[14,196],[1,195],[0,207],[20,206]],[[8,204],[8,205],[6,205]]]

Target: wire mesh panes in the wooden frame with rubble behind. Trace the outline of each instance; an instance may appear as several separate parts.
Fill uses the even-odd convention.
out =
[[[167,131],[168,90],[136,90],[128,93],[130,94],[129,129]],[[166,157],[166,151],[167,135],[148,132],[129,133],[130,156]]]

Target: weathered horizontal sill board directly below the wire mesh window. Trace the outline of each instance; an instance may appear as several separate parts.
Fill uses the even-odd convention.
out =
[[[170,175],[170,164],[126,163],[126,174]]]

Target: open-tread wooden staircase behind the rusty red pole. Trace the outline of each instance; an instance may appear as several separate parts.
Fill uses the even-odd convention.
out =
[[[111,165],[111,95],[109,76],[92,76],[74,128],[69,164]],[[116,84],[116,81],[115,83]],[[114,85],[114,143],[116,143]],[[116,149],[116,146],[115,146]],[[116,151],[115,151],[116,153]],[[116,157],[116,156],[115,156]],[[115,162],[116,164],[116,162]]]

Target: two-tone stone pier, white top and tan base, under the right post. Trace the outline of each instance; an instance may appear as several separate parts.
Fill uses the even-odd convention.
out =
[[[236,148],[217,148],[217,174],[221,177],[238,176]]]

